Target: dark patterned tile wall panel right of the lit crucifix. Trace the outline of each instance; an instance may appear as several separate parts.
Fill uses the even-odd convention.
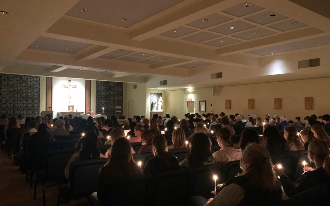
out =
[[[93,97],[91,97],[93,98]],[[123,83],[113,81],[96,81],[96,114],[104,113],[109,118],[114,114],[117,118],[123,112]],[[120,108],[119,108],[120,107]],[[116,112],[120,111],[120,112]]]

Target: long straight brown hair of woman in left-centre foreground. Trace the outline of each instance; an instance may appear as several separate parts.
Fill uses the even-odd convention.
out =
[[[133,160],[131,145],[125,137],[119,137],[111,149],[109,161],[101,168],[112,177],[141,174],[141,169]]]

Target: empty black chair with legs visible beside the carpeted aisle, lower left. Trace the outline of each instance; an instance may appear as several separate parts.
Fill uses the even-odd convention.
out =
[[[40,180],[42,183],[43,203],[46,205],[45,187],[51,187],[55,185],[45,186],[45,182],[49,179],[57,178],[59,180],[60,178],[64,177],[64,169],[76,151],[76,149],[58,149],[49,150],[47,152],[45,169],[36,171],[33,199],[36,198],[37,180]]]

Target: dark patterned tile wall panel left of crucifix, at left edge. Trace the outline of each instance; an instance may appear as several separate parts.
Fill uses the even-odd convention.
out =
[[[39,116],[40,77],[0,74],[0,113],[8,117],[21,114]]]

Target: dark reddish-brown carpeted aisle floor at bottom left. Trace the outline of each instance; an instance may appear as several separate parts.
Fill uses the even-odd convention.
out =
[[[45,185],[53,184],[46,183]],[[34,187],[34,182],[33,182]],[[48,187],[46,191],[46,205],[56,205],[58,186]],[[36,199],[33,199],[33,188],[30,188],[29,182],[25,182],[25,175],[19,172],[18,166],[15,166],[13,157],[9,159],[7,155],[0,150],[0,205],[43,205],[42,186],[37,184]],[[83,199],[72,200],[70,205],[82,203]],[[65,204],[62,204],[63,206]]]

